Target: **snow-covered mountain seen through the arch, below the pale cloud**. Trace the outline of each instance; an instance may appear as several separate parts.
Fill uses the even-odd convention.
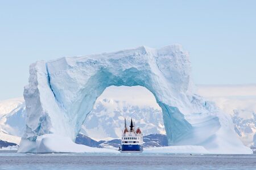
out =
[[[94,139],[119,138],[124,127],[124,118],[129,124],[131,117],[135,125],[143,129],[143,134],[165,134],[160,109],[113,99],[97,100],[80,133]]]

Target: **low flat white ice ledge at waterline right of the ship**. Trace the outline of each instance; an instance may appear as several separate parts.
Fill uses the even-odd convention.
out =
[[[145,154],[210,154],[203,146],[165,146],[144,148]]]

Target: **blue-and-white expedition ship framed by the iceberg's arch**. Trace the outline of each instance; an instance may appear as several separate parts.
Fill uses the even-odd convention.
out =
[[[133,119],[131,119],[130,131],[126,127],[125,119],[125,130],[123,130],[122,139],[121,139],[121,152],[125,151],[143,151],[143,135],[141,129],[137,128],[135,131],[135,125],[133,124]]]

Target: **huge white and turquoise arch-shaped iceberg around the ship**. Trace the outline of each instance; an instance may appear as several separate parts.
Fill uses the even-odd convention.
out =
[[[249,152],[236,137],[230,118],[193,94],[188,54],[180,45],[32,64],[24,88],[27,120],[19,152],[67,152],[67,147],[76,147],[71,140],[109,86],[143,86],[151,91],[162,108],[169,145]]]

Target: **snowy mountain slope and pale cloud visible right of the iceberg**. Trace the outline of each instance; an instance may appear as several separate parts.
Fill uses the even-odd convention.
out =
[[[248,147],[253,146],[256,133],[256,85],[199,86],[198,92],[214,101],[222,111],[232,116],[238,137]]]

